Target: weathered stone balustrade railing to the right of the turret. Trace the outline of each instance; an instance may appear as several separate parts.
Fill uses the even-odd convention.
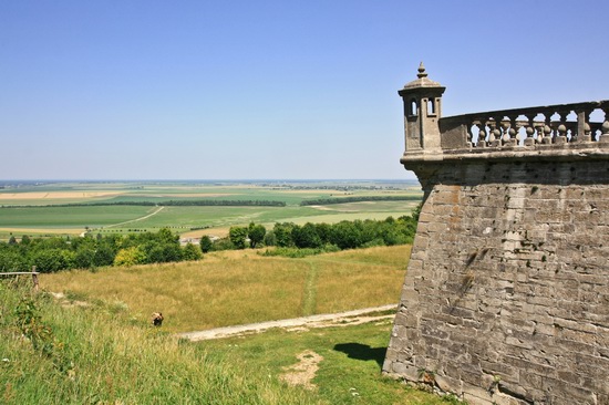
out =
[[[605,114],[603,122],[590,120],[595,111]],[[609,101],[443,117],[440,132],[443,149],[469,149],[472,153],[506,147],[609,143]]]

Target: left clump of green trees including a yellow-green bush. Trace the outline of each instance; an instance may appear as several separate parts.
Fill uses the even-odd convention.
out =
[[[134,266],[198,260],[196,245],[182,247],[179,237],[168,229],[158,232],[109,235],[64,239],[11,237],[0,243],[0,272],[24,271],[37,267],[40,272],[70,269],[96,269],[104,266]]]

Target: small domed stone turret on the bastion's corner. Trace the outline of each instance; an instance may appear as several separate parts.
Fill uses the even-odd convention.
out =
[[[446,87],[427,79],[423,62],[416,76],[398,92],[404,102],[406,152],[432,152],[441,146],[438,122],[442,117],[442,94]]]

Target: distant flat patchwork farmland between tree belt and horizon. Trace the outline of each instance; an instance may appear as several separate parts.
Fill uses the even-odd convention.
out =
[[[399,217],[410,214],[422,198],[419,184],[409,180],[12,181],[0,186],[0,240],[22,235],[106,235],[165,227],[187,237],[223,236],[230,226],[252,221],[272,227],[278,221],[332,224]],[[353,197],[363,200],[300,205],[320,198]],[[385,197],[403,200],[365,200]],[[187,204],[176,206],[168,201]],[[230,205],[194,206],[193,201]]]

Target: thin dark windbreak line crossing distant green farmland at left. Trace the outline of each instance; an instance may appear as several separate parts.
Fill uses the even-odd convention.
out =
[[[140,207],[285,207],[285,201],[264,199],[193,199],[167,201],[101,201],[101,202],[70,202],[50,204],[44,206],[1,206],[1,208],[48,208],[48,207],[106,207],[106,206],[140,206]]]

